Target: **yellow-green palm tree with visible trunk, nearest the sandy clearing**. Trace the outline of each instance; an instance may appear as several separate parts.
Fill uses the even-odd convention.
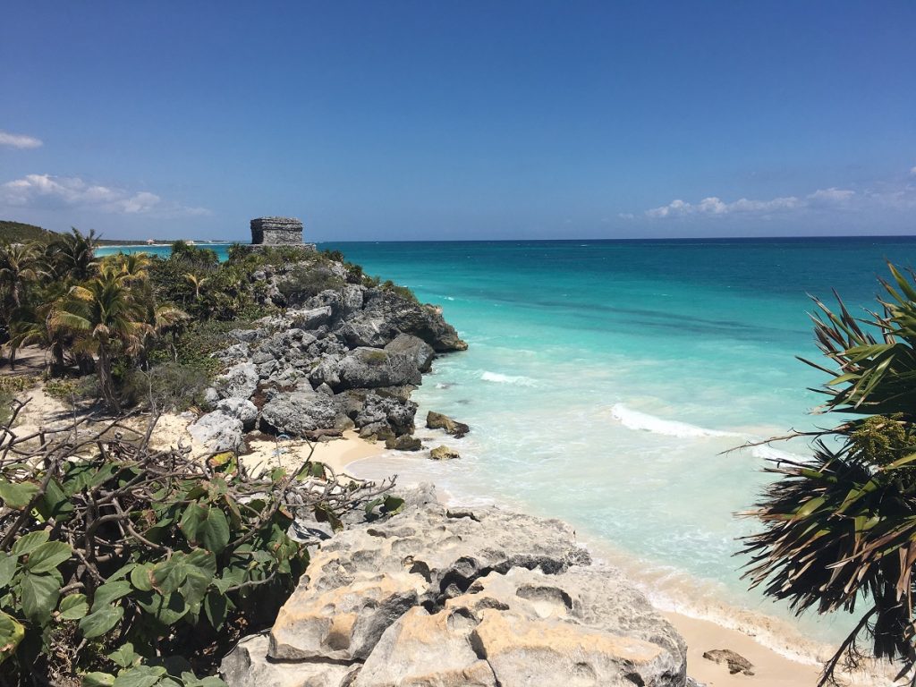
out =
[[[54,311],[51,323],[77,337],[77,347],[97,354],[99,387],[109,409],[120,412],[114,391],[114,355],[136,354],[149,325],[143,322],[143,306],[134,299],[128,278],[114,267],[70,290],[68,298]]]

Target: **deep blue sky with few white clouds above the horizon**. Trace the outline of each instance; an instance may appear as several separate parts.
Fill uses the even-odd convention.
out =
[[[7,3],[0,218],[916,233],[912,2]]]

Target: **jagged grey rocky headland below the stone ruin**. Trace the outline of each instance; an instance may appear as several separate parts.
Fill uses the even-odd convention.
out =
[[[422,383],[437,353],[466,344],[437,308],[392,290],[344,283],[344,264],[319,263],[339,288],[308,295],[313,285],[303,284],[302,293],[290,292],[282,279],[296,264],[259,271],[267,292],[277,294],[283,283],[283,298],[297,305],[251,329],[233,330],[234,343],[214,354],[225,371],[204,399],[220,414],[198,420],[195,430],[211,450],[241,443],[229,420],[241,422],[241,431],[311,439],[356,428],[366,438],[414,450],[413,442],[401,439],[414,431],[417,405],[410,390]]]

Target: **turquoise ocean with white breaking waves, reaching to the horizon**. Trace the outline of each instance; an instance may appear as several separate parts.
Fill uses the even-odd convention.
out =
[[[429,480],[456,499],[571,522],[656,603],[747,626],[788,619],[747,591],[737,539],[765,458],[804,443],[728,452],[812,415],[825,376],[808,294],[872,306],[886,260],[916,262],[916,239],[740,239],[341,243],[369,274],[442,305],[469,344],[438,359],[414,394],[471,425],[446,443],[461,460],[388,453],[354,474]],[[748,619],[750,618],[750,620]],[[848,621],[792,621],[835,641]]]

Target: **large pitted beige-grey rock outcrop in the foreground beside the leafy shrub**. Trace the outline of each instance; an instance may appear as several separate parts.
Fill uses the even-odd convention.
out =
[[[221,672],[230,687],[683,687],[685,656],[568,525],[427,498],[323,542],[267,638]]]

